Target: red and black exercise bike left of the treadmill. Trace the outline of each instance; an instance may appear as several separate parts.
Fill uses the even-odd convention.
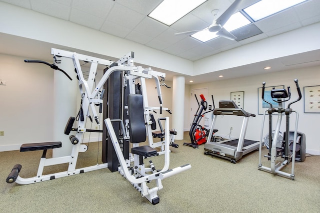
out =
[[[206,129],[205,127],[202,127],[199,123],[200,123],[202,117],[204,117],[204,115],[206,113],[212,112],[214,110],[214,101],[213,101],[213,95],[211,95],[213,108],[207,112],[203,112],[203,111],[206,111],[206,109],[207,109],[207,102],[205,101],[203,94],[200,94],[200,98],[201,98],[200,102],[196,98],[195,94],[194,94],[194,97],[196,99],[196,102],[198,103],[198,109],[196,110],[196,114],[194,115],[194,118],[193,118],[193,121],[191,124],[191,128],[189,131],[191,143],[183,143],[183,145],[189,146],[192,148],[198,148],[198,145],[204,144],[207,141],[206,138],[208,137],[208,134],[210,131],[210,130]],[[211,126],[211,125],[209,125],[209,126]],[[217,131],[218,131],[217,129],[213,130],[210,140],[212,140],[212,141],[214,140],[213,134],[216,133]]]

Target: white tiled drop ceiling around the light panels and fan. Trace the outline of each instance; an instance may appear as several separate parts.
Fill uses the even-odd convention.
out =
[[[244,46],[254,41],[265,39],[320,21],[320,0],[309,0],[280,13],[254,22],[254,26],[237,30],[236,32],[238,36],[245,37],[245,33],[249,33],[250,30],[259,29],[262,33],[258,35],[242,40],[238,39],[239,41],[232,41],[222,37],[217,37],[213,40],[202,43],[188,35],[174,35],[174,33],[207,27],[212,23],[211,11],[213,9],[219,9],[219,14],[221,14],[233,2],[233,0],[207,0],[173,23],[171,26],[162,24],[147,16],[154,7],[161,2],[161,0],[0,1],[84,25],[86,27],[128,39],[191,61],[196,61],[210,55],[239,46]],[[258,0],[243,0],[238,6],[238,9],[247,7],[256,1]],[[1,37],[2,36],[4,35],[1,35]],[[17,38],[12,37],[12,39]],[[303,38],[297,42],[304,42]],[[2,53],[3,49],[5,49],[4,44],[2,44],[0,50]],[[317,57],[314,58],[314,55]],[[310,60],[309,56],[313,58]],[[272,62],[274,63],[274,66],[278,66],[274,71],[277,71],[277,69],[280,71],[289,69],[288,67],[294,68],[295,65],[292,62],[296,61],[297,58],[299,58],[297,66],[301,66],[301,64],[304,66],[320,65],[320,51],[306,52],[303,53],[302,57],[299,55],[292,55],[290,57],[274,61],[270,60],[268,62],[270,63],[270,66],[272,66]],[[302,61],[301,58],[303,58]],[[261,66],[263,64],[261,62],[261,64],[251,64],[250,66],[253,65]],[[242,68],[243,70],[247,70],[246,67]],[[237,69],[241,68],[237,67]],[[223,72],[223,70],[219,72]],[[218,75],[219,72],[216,72],[214,75]],[[245,75],[250,74],[247,72],[248,71],[246,71]],[[208,74],[208,76],[212,75],[213,74]],[[168,73],[168,76],[170,76],[170,73]],[[203,79],[203,77],[201,79]]]

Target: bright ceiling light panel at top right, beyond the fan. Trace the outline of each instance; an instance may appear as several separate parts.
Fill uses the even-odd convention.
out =
[[[258,21],[303,1],[306,0],[260,0],[246,7],[243,11],[254,21]]]

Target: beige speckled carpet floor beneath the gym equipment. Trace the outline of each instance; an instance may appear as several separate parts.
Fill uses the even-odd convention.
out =
[[[306,157],[295,164],[295,180],[259,171],[258,151],[236,164],[183,146],[176,140],[171,148],[170,168],[190,163],[192,168],[162,181],[160,202],[152,205],[140,196],[119,173],[108,169],[58,178],[30,185],[5,183],[15,164],[21,164],[20,176],[36,174],[41,151],[0,153],[0,209],[11,213],[163,213],[163,212],[320,212],[320,156]],[[100,145],[100,144],[99,144]],[[77,168],[100,163],[98,143],[90,143],[87,152],[79,154]],[[99,146],[100,147],[100,146]],[[266,152],[266,148],[263,148]],[[50,153],[48,152],[48,156]],[[163,166],[163,155],[152,159],[157,169]],[[263,164],[267,161],[263,159]],[[67,165],[46,168],[50,174],[66,170]],[[290,168],[285,168],[290,171]]]

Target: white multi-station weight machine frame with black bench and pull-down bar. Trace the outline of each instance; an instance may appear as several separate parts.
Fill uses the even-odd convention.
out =
[[[53,180],[60,177],[66,177],[70,175],[76,175],[84,172],[89,172],[93,170],[108,168],[108,163],[103,164],[96,164],[93,166],[75,169],[76,162],[78,158],[79,152],[85,152],[87,150],[87,146],[79,143],[82,142],[83,136],[85,132],[102,132],[101,130],[90,130],[86,128],[86,122],[87,118],[91,120],[91,122],[96,122],[97,125],[99,125],[99,116],[96,110],[96,105],[99,105],[99,113],[102,112],[102,103],[103,103],[103,93],[104,89],[103,86],[107,79],[109,78],[110,74],[115,71],[120,71],[123,82],[126,82],[125,86],[129,88],[130,95],[135,95],[134,87],[135,87],[135,81],[139,80],[141,82],[142,86],[142,94],[139,95],[139,98],[141,99],[139,102],[139,106],[141,106],[142,110],[142,119],[143,120],[143,128],[145,134],[148,136],[148,143],[149,145],[143,146],[147,150],[150,151],[150,156],[156,156],[158,154],[164,154],[165,157],[165,164],[164,167],[160,171],[156,171],[154,169],[154,165],[152,162],[150,162],[150,168],[144,168],[144,164],[141,164],[141,159],[143,161],[143,158],[150,157],[150,156],[142,156],[138,157],[138,154],[140,152],[145,153],[143,151],[139,150],[139,146],[137,145],[139,142],[132,142],[132,137],[134,133],[131,132],[131,123],[133,125],[133,120],[117,120],[112,121],[108,118],[104,120],[104,123],[106,125],[107,133],[111,139],[110,143],[112,142],[113,148],[116,152],[117,159],[120,163],[120,166],[118,167],[118,171],[133,185],[135,188],[141,193],[142,197],[146,197],[148,201],[150,201],[152,204],[157,204],[159,202],[159,198],[156,195],[157,191],[162,189],[161,180],[167,177],[170,177],[174,174],[177,174],[179,172],[185,171],[187,169],[190,169],[191,166],[189,164],[186,164],[184,166],[171,169],[169,170],[169,144],[170,144],[170,137],[169,137],[169,128],[168,128],[168,117],[163,118],[165,120],[165,138],[164,141],[153,143],[152,140],[152,134],[151,134],[151,119],[149,116],[149,110],[160,110],[160,113],[162,110],[166,110],[166,108],[162,108],[162,97],[161,97],[161,90],[160,90],[160,83],[158,80],[158,77],[164,78],[165,74],[161,72],[157,72],[152,70],[151,68],[142,68],[141,66],[134,66],[133,65],[133,52],[128,53],[127,55],[120,58],[118,61],[113,62],[101,58],[91,57],[87,55],[78,54],[75,52],[69,52],[65,50],[60,49],[51,49],[51,54],[54,56],[55,63],[59,63],[56,60],[56,57],[66,57],[71,58],[75,67],[75,71],[77,74],[78,79],[78,86],[79,91],[81,94],[81,107],[80,107],[80,119],[77,120],[76,128],[72,128],[73,122],[75,121],[75,118],[70,117],[68,120],[64,134],[69,134],[71,131],[75,132],[75,135],[70,135],[69,139],[72,143],[72,150],[70,155],[63,156],[63,157],[55,157],[55,158],[46,158],[46,152],[48,149],[55,149],[60,148],[62,146],[61,142],[44,142],[44,143],[32,143],[32,144],[22,144],[20,147],[20,152],[26,152],[26,151],[34,151],[34,150],[43,150],[42,157],[40,159],[37,175],[32,178],[22,178],[19,176],[19,172],[21,170],[21,165],[15,165],[11,171],[11,173],[6,178],[7,183],[17,183],[21,185],[25,184],[32,184],[32,183],[38,183],[43,182],[47,180]],[[25,61],[25,62],[40,62],[40,61]],[[80,62],[89,62],[90,63],[90,69],[88,78],[85,79]],[[48,64],[46,62],[40,62],[45,63],[49,65],[53,69],[60,70],[55,64]],[[108,69],[104,72],[102,78],[97,82],[95,79],[97,67],[98,65],[103,65],[105,67],[108,67]],[[67,75],[63,70],[62,71],[65,75]],[[68,78],[70,78],[67,75]],[[146,96],[146,87],[145,87],[145,78],[153,78],[156,83],[157,88],[157,94],[160,102],[159,107],[150,107],[148,106],[147,102],[147,96]],[[70,78],[71,79],[71,78]],[[134,106],[134,105],[133,105]],[[127,111],[130,111],[129,106],[127,107]],[[128,112],[123,112],[128,113]],[[135,114],[132,112],[131,114]],[[141,113],[140,113],[141,115]],[[142,121],[141,120],[141,121]],[[121,149],[119,145],[119,138],[114,133],[114,128],[111,124],[111,122],[119,122],[121,125],[120,134],[122,134],[123,142],[127,142],[128,140],[131,140],[131,143],[133,144],[133,148],[137,149],[137,152],[134,153],[133,151],[130,151],[130,154],[128,155],[128,158],[124,158],[124,154],[122,153],[123,150]],[[125,125],[123,124],[125,123]],[[142,126],[139,125],[141,128]],[[116,130],[118,131],[118,130]],[[129,134],[129,132],[131,134]],[[134,137],[134,136],[133,136]],[[136,144],[135,144],[136,143]],[[158,153],[154,148],[160,147],[160,153]],[[131,162],[133,163],[133,167],[130,168]],[[48,174],[43,175],[43,168],[46,166],[51,165],[58,165],[58,164],[68,164],[67,171],[58,172],[54,174]],[[143,162],[142,162],[143,163]],[[130,171],[129,171],[130,168]],[[137,168],[137,169],[136,169]],[[148,174],[150,173],[150,174]],[[155,180],[157,187],[149,189],[146,184],[151,181]]]

